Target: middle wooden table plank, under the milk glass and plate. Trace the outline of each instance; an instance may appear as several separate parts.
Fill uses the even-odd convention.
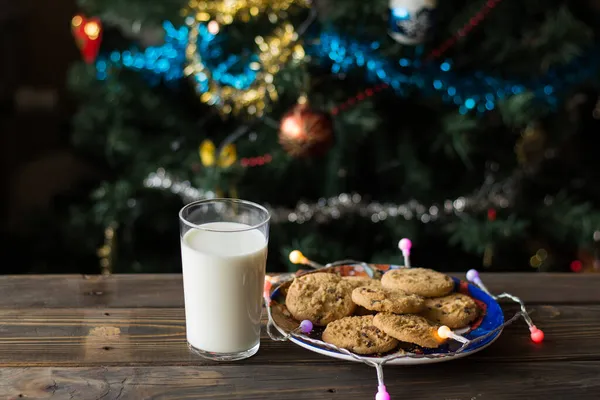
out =
[[[534,306],[532,311],[536,325],[546,333],[543,344],[531,342],[519,320],[496,343],[469,359],[600,360],[600,305]],[[272,341],[263,329],[261,349],[246,364],[336,362],[292,343]],[[188,351],[180,308],[0,310],[0,367],[211,364]]]

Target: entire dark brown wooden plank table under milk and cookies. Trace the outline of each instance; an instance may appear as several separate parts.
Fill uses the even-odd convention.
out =
[[[392,399],[600,398],[600,275],[482,274],[523,320],[470,357],[386,367]],[[505,307],[508,313],[514,305]],[[374,369],[263,336],[242,362],[188,351],[181,276],[0,276],[0,399],[373,399]]]

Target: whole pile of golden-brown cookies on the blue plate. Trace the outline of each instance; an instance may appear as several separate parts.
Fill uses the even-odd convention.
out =
[[[453,290],[452,278],[425,268],[390,270],[381,281],[316,272],[294,279],[286,306],[295,319],[325,327],[323,341],[378,354],[402,343],[438,347],[440,325],[458,329],[473,322],[477,304]]]

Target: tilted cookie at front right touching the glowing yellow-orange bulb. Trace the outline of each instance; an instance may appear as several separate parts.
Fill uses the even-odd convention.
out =
[[[421,347],[435,348],[443,343],[437,335],[438,326],[419,315],[379,313],[373,317],[373,325],[393,338]]]

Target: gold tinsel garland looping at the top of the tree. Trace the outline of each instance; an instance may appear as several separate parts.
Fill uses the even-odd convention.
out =
[[[259,61],[250,64],[256,71],[252,84],[245,89],[222,86],[214,79],[209,68],[202,61],[198,50],[199,25],[207,24],[210,33],[216,34],[220,25],[229,25],[234,20],[249,21],[250,18],[268,11],[269,20],[277,22],[277,14],[288,10],[292,5],[308,7],[307,0],[275,0],[275,1],[197,1],[190,0],[188,8],[183,10],[186,23],[190,26],[189,41],[186,48],[186,76],[202,76],[208,82],[208,90],[200,95],[203,103],[216,106],[222,114],[239,114],[242,111],[249,115],[262,116],[267,109],[268,101],[276,101],[277,90],[273,77],[290,61],[302,61],[304,49],[298,43],[298,34],[289,23],[284,23],[267,37],[257,36],[255,43],[259,49]],[[281,19],[281,18],[279,18]],[[204,90],[204,89],[203,89]]]

